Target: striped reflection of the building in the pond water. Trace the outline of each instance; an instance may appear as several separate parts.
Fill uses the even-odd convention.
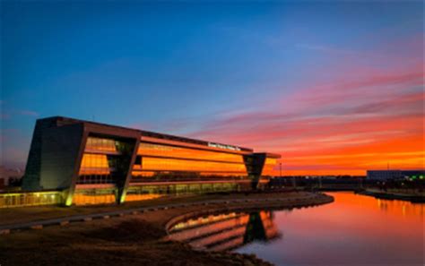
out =
[[[196,249],[230,251],[253,241],[280,237],[272,211],[230,212],[180,222],[169,229],[173,240],[186,242]]]

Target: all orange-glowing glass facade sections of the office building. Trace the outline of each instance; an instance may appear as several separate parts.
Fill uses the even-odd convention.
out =
[[[89,136],[82,155],[77,184],[119,185],[125,178],[122,157],[126,143]],[[262,176],[274,176],[277,159],[266,158]],[[217,149],[186,142],[149,138],[140,142],[126,201],[142,201],[165,194],[239,191],[249,186],[248,173],[255,163],[249,152]],[[121,176],[119,176],[121,175]],[[260,181],[261,183],[261,181]],[[122,183],[121,183],[122,184]],[[77,190],[78,205],[117,201],[117,191],[102,188]]]

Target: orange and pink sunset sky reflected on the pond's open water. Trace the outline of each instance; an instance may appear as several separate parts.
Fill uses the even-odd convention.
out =
[[[335,202],[274,211],[284,238],[235,252],[256,253],[275,265],[423,265],[425,204],[329,193]]]

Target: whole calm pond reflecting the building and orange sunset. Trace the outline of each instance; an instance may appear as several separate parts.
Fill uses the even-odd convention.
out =
[[[425,204],[328,194],[335,202],[317,207],[190,219],[171,236],[276,265],[424,265]]]

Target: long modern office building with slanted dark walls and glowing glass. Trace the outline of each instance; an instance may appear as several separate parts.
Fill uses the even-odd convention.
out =
[[[267,183],[279,158],[233,145],[55,116],[37,120],[22,190],[60,191],[67,206],[243,190]]]

